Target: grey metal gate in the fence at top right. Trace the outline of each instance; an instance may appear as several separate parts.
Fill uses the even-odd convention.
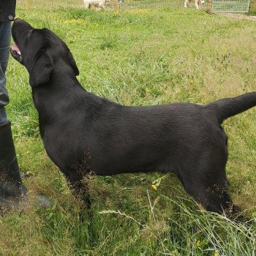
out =
[[[250,0],[211,0],[211,12],[249,12]]]

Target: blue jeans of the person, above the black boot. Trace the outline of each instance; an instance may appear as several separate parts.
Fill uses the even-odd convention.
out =
[[[7,122],[4,106],[9,103],[9,97],[5,72],[10,54],[11,28],[12,23],[10,21],[0,22],[0,124]]]

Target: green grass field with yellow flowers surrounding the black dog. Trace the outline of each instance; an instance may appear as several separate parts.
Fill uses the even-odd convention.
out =
[[[50,2],[30,11],[18,4],[17,15],[64,39],[83,87],[114,102],[206,104],[256,91],[256,22],[250,20],[167,7],[55,9]],[[203,211],[175,176],[158,173],[89,178],[89,212],[45,154],[26,69],[10,59],[7,79],[7,111],[31,203],[23,213],[0,217],[0,255],[255,255],[255,109],[223,125],[230,192],[249,223]],[[53,206],[35,207],[37,193]]]

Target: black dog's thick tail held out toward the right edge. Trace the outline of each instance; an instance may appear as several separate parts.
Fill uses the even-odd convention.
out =
[[[217,114],[219,124],[225,119],[242,113],[249,108],[256,106],[256,91],[248,94],[243,94],[234,98],[219,99],[216,102],[211,102],[207,107],[214,110]]]

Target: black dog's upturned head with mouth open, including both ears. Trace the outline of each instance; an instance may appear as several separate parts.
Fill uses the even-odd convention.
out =
[[[28,69],[31,86],[47,83],[58,63],[69,65],[72,72],[79,75],[69,48],[49,29],[34,29],[29,23],[17,18],[12,26],[12,37],[15,45],[12,45],[10,53]]]

